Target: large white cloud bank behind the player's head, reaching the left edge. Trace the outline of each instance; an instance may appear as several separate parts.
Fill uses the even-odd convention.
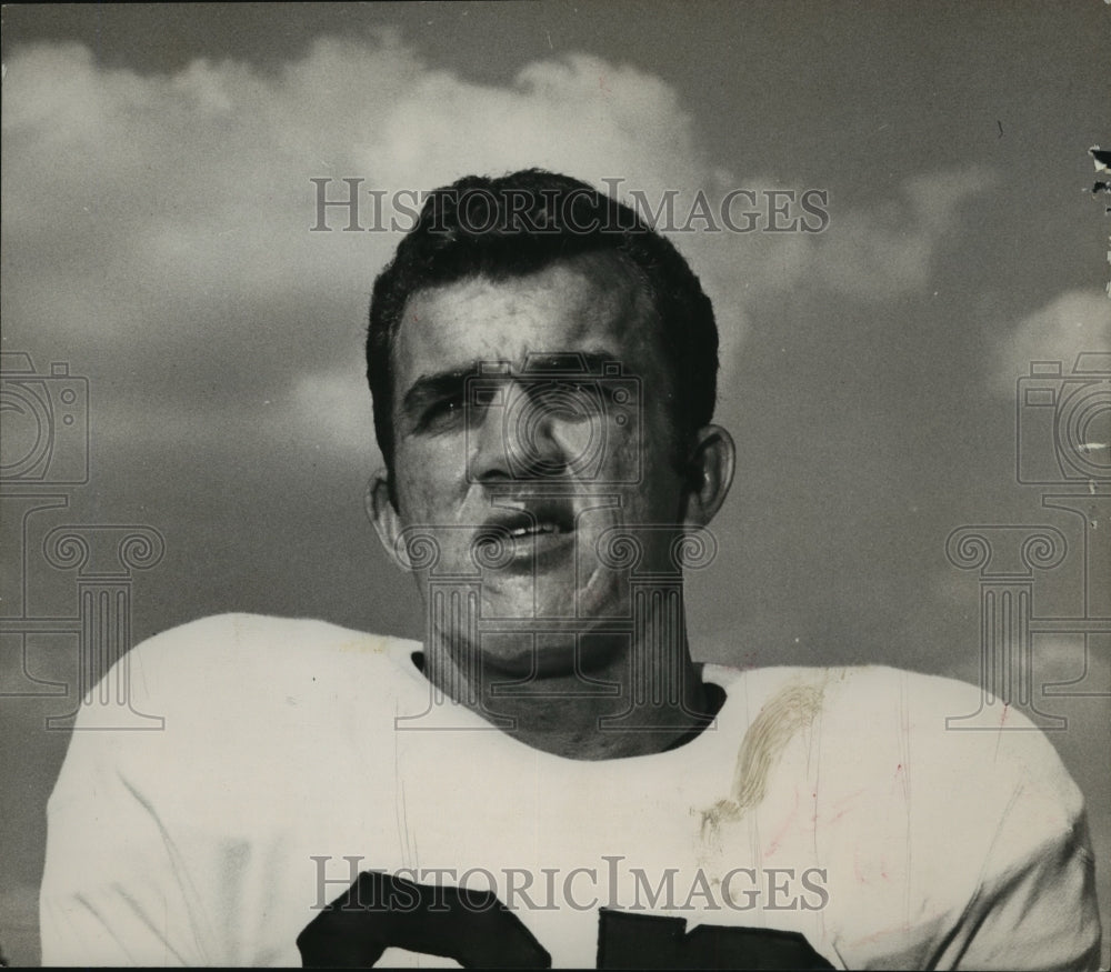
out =
[[[203,409],[206,389],[216,408],[240,395],[252,415],[251,402],[292,395],[311,419],[304,382],[359,367],[373,274],[397,237],[309,232],[311,178],[419,191],[541,166],[621,178],[650,200],[677,189],[687,206],[747,184],[643,71],[577,54],[478,84],[389,32],[318,40],[269,74],[199,60],[140,76],[77,44],[23,49],[8,63],[3,129],[8,347],[64,348],[78,371],[96,362],[101,400],[126,390],[137,417]],[[834,210],[821,240],[678,234],[718,310],[725,398],[751,294],[920,285],[957,207],[985,184],[981,172],[912,181],[899,206]],[[336,428],[362,442],[353,422]]]

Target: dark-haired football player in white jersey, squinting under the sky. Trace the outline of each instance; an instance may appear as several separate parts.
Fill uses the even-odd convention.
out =
[[[136,648],[166,731],[82,713],[44,962],[1095,968],[1081,794],[1020,715],[692,661],[717,349],[684,259],[590,186],[432,193],[367,342],[368,510],[423,641],[223,615]]]

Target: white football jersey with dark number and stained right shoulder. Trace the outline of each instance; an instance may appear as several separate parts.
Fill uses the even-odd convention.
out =
[[[108,678],[164,728],[83,709],[43,962],[1098,966],[1081,794],[1013,712],[947,731],[979,689],[707,665],[710,728],[580,761],[436,698],[420,650],[243,614],[137,647]]]

